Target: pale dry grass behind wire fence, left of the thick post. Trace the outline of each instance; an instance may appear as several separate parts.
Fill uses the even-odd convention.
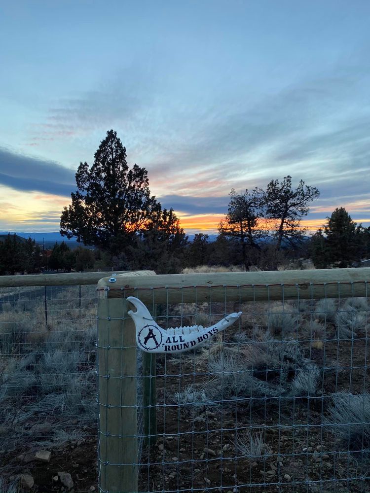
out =
[[[83,426],[95,425],[96,291],[91,288],[81,287],[81,300],[78,286],[48,288],[47,321],[43,289],[17,288],[0,305],[2,453],[59,447],[86,434]],[[40,436],[33,425],[45,422],[51,429]]]

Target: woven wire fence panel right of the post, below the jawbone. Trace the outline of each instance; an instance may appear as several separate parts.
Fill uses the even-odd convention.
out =
[[[280,301],[157,304],[163,328],[242,317],[191,351],[156,355],[144,378],[157,432],[138,426],[138,460],[128,462],[138,491],[370,491],[370,300],[340,291],[285,300],[282,286]]]

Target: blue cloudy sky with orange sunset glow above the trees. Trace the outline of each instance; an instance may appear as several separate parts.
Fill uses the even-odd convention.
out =
[[[58,231],[114,129],[187,233],[303,179],[370,225],[368,0],[0,0],[0,230]]]

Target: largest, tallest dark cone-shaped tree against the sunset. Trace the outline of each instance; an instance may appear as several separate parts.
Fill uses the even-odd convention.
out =
[[[160,211],[150,195],[147,170],[136,164],[129,169],[126,148],[113,130],[99,145],[91,168],[80,163],[75,177],[78,190],[62,212],[60,233],[85,245],[108,249],[115,239],[122,246]]]

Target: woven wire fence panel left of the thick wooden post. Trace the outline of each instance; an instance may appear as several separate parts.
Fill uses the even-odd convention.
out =
[[[0,289],[1,492],[97,489],[96,307],[93,285]]]

